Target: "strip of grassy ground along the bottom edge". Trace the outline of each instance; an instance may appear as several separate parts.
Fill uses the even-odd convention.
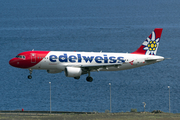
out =
[[[95,113],[95,114],[47,114],[0,113],[0,120],[180,120],[180,114],[172,113]]]

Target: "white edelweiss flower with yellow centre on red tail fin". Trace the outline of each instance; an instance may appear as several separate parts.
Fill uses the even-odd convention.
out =
[[[155,32],[153,31],[151,34],[151,38],[147,38],[142,45],[144,45],[145,47],[143,48],[144,50],[146,50],[146,55],[156,55],[158,46],[159,46],[159,41],[160,39],[157,38],[156,39],[156,35]]]

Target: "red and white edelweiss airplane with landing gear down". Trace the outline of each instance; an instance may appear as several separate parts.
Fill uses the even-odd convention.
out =
[[[31,79],[34,69],[47,70],[48,73],[64,71],[66,77],[79,79],[88,74],[86,80],[92,82],[90,72],[118,71],[150,65],[163,61],[157,56],[162,28],[155,28],[141,46],[132,53],[108,52],[70,52],[70,51],[26,51],[9,61],[13,67],[28,69]]]

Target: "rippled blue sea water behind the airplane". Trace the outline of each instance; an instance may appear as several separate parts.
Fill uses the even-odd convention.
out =
[[[1,0],[0,110],[180,112],[179,0]],[[140,68],[92,72],[89,83],[9,65],[23,51],[134,52],[163,28],[157,55],[172,58]],[[49,84],[51,82],[51,84]],[[111,83],[111,86],[109,85]],[[170,86],[170,89],[168,88]]]

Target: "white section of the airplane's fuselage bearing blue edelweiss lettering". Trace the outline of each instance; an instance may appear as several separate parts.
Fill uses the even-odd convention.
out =
[[[40,58],[37,57],[36,59]],[[31,69],[56,70],[57,72],[61,72],[64,71],[67,66],[102,65],[106,67],[99,67],[98,71],[117,71],[149,65],[162,60],[164,60],[164,57],[156,55],[50,51],[37,65],[31,67]],[[91,71],[97,71],[97,69]]]

